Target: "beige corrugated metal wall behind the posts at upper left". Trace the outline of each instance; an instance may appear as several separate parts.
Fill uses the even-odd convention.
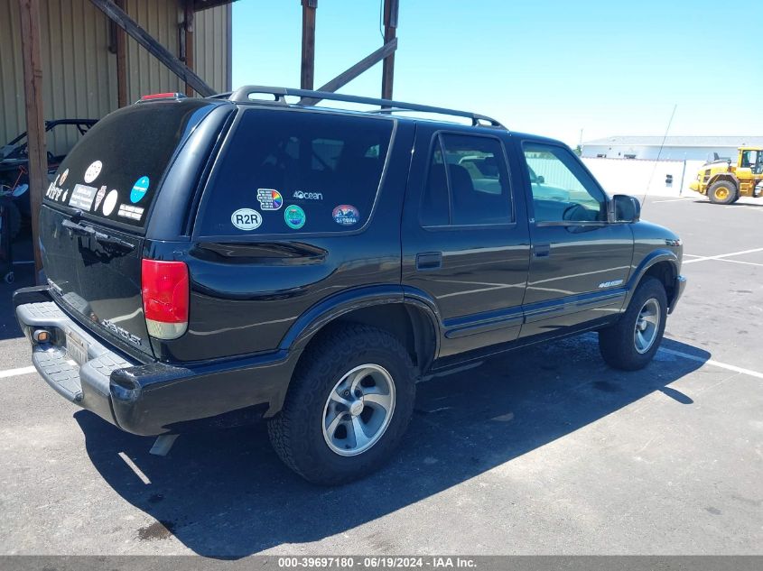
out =
[[[109,23],[89,0],[42,0],[43,98],[46,119],[100,118],[116,109],[116,55]],[[178,0],[127,0],[126,11],[174,55],[180,49]],[[230,5],[196,14],[196,72],[218,91],[230,88]],[[18,4],[0,0],[0,145],[25,130]],[[169,69],[127,37],[127,94],[183,91]],[[79,134],[56,130],[49,150],[67,152]]]

